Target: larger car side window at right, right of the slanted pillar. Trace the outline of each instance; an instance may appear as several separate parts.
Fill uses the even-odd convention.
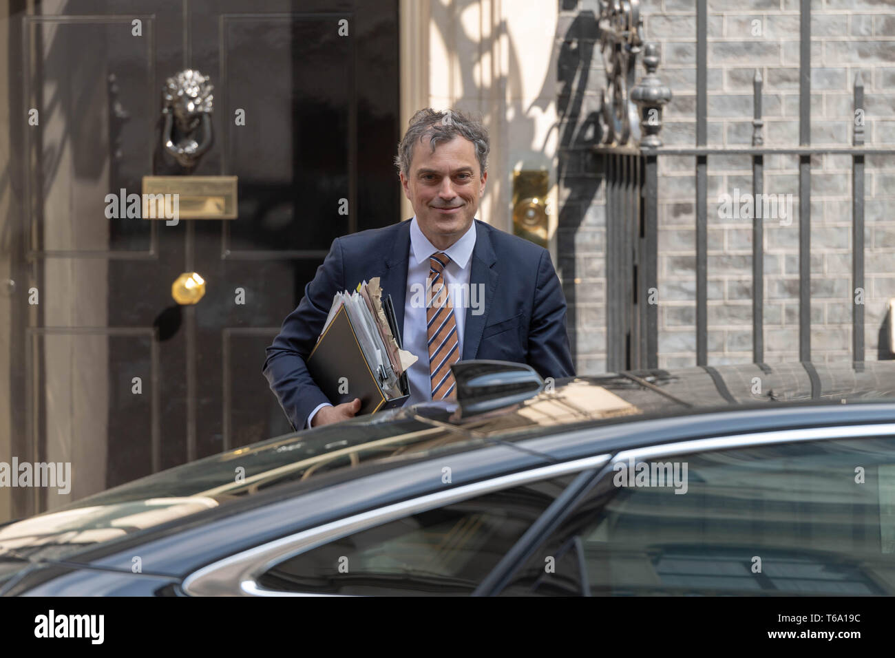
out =
[[[895,594],[895,439],[645,464],[603,475],[500,594]]]

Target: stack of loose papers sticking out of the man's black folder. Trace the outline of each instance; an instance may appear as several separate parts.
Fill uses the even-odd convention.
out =
[[[353,293],[347,290],[336,293],[321,336],[342,306],[345,306],[363,356],[380,388],[387,397],[400,397],[402,391],[398,379],[416,363],[417,357],[401,348],[400,329],[392,331],[389,325],[386,311],[394,318],[394,310],[383,309],[379,277],[371,278],[369,283],[362,281]]]

